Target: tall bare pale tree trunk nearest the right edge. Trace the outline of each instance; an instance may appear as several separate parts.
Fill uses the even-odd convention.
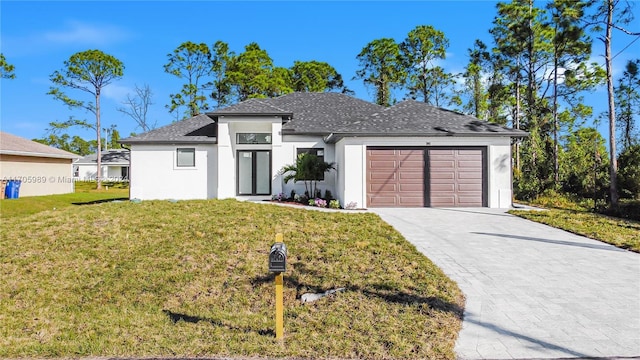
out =
[[[611,30],[613,28],[614,1],[607,0],[607,29],[604,38],[604,58],[607,71],[607,94],[609,96],[609,193],[611,207],[618,207],[618,160],[616,158],[616,108],[613,97],[613,69],[611,59]]]

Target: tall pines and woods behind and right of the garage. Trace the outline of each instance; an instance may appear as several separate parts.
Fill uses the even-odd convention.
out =
[[[418,26],[402,42],[382,38],[368,43],[357,56],[356,78],[374,88],[380,105],[393,104],[393,94],[400,93],[404,99],[529,132],[513,151],[517,198],[565,191],[606,198],[615,206],[618,183],[624,185],[623,196],[638,196],[637,187],[634,191],[629,186],[633,179],[639,181],[638,165],[634,168],[628,161],[640,145],[640,60],[629,61],[614,85],[610,54],[612,29],[640,36],[625,28],[633,18],[631,4],[554,0],[543,5],[532,0],[498,3],[489,29],[492,43],[475,40],[462,73],[447,73],[441,66],[449,46],[445,34],[432,26]],[[591,34],[605,45],[604,69],[591,60],[595,55]],[[584,95],[603,84],[609,89],[609,111],[593,114]],[[618,106],[613,105],[616,101]],[[586,127],[594,117],[609,122],[608,156],[602,136]],[[621,181],[618,143],[626,161]]]

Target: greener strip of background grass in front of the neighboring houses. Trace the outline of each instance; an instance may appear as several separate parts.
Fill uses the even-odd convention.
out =
[[[18,199],[0,199],[0,218],[26,216],[45,210],[60,210],[68,206],[113,199],[128,199],[128,183],[104,183],[96,190],[95,182],[76,182],[75,192],[61,195],[27,196]]]

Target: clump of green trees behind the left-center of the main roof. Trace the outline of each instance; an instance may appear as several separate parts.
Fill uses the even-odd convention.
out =
[[[187,41],[167,57],[165,72],[185,81],[179,92],[170,95],[166,106],[176,119],[249,98],[275,97],[296,91],[352,93],[328,63],[294,61],[289,68],[279,67],[255,42],[236,54],[223,41],[215,42],[211,48],[205,43]]]

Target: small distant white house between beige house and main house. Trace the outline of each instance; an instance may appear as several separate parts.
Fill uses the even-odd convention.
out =
[[[129,150],[109,149],[101,152],[102,178],[113,181],[129,180]],[[95,180],[98,176],[98,154],[87,155],[73,163],[77,180]]]

